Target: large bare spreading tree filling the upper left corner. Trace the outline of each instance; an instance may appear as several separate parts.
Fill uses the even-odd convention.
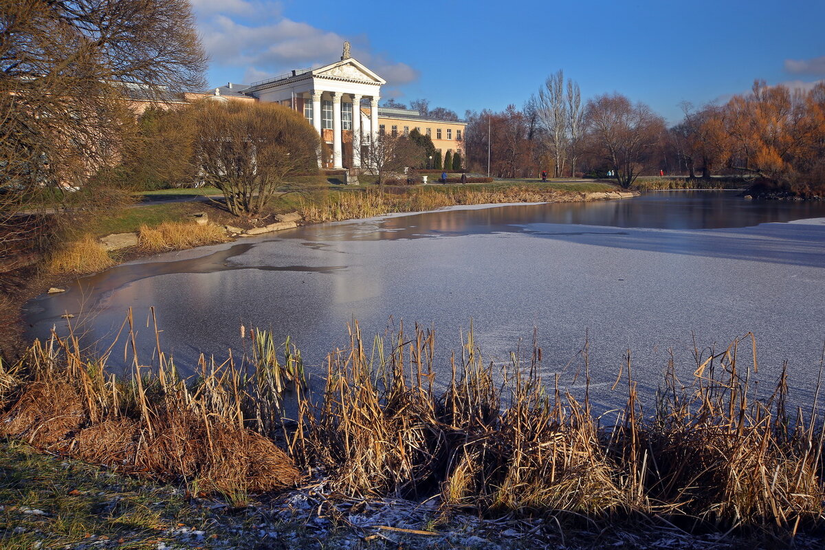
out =
[[[127,96],[201,87],[205,68],[186,0],[0,0],[0,235],[69,189],[95,204],[90,178],[134,130]]]

